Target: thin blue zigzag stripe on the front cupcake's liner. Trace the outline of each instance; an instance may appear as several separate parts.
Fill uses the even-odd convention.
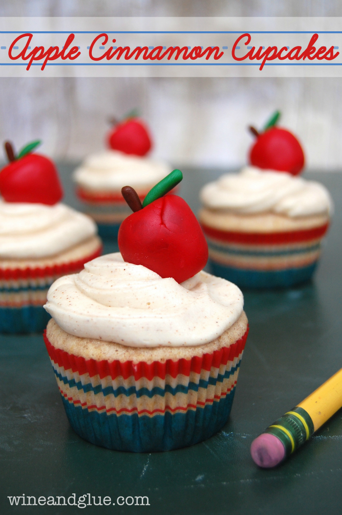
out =
[[[139,390],[136,390],[135,386],[131,386],[130,388],[119,386],[118,388],[114,389],[113,386],[106,386],[105,388],[102,388],[101,384],[97,386],[93,386],[92,383],[82,384],[81,381],[76,382],[75,379],[68,380],[66,376],[63,376],[61,373],[57,372],[54,367],[53,370],[55,371],[56,377],[58,377],[62,383],[69,385],[70,388],[74,388],[76,386],[78,390],[82,390],[84,393],[92,391],[95,395],[102,392],[104,397],[107,395],[114,395],[115,398],[119,395],[124,395],[126,397],[136,395],[137,398],[147,396],[151,399],[154,395],[165,397],[165,393],[171,393],[174,396],[176,393],[188,393],[189,390],[198,391],[199,388],[208,388],[208,385],[215,386],[217,383],[222,383],[224,379],[228,379],[228,377],[233,375],[239,369],[240,362],[241,359],[236,367],[231,367],[231,369],[226,370],[224,374],[218,374],[217,378],[209,377],[209,381],[200,379],[199,384],[189,382],[187,386],[178,384],[175,388],[172,388],[171,385],[165,385],[165,388],[155,386],[151,390],[148,388],[140,388]]]

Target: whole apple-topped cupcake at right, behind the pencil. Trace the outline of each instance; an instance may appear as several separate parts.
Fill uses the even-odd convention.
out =
[[[254,166],[201,191],[209,263],[215,275],[243,288],[289,287],[312,277],[332,200],[323,185],[296,176],[304,155],[293,134],[269,124],[253,131]]]

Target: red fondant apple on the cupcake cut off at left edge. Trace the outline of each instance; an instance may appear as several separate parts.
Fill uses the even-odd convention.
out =
[[[57,169],[50,159],[40,154],[23,153],[25,149],[15,158],[12,148],[11,151],[8,149],[7,144],[10,163],[0,171],[0,193],[6,202],[52,205],[62,199]]]

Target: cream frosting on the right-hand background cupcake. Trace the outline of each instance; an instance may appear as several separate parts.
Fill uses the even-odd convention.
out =
[[[300,217],[329,214],[333,209],[328,190],[319,182],[254,166],[206,184],[201,200],[209,209],[236,214],[273,212]]]

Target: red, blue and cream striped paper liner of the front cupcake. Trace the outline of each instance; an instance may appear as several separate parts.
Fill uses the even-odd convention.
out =
[[[107,449],[154,452],[198,443],[226,423],[247,333],[211,354],[150,364],[84,359],[44,339],[74,431]]]

